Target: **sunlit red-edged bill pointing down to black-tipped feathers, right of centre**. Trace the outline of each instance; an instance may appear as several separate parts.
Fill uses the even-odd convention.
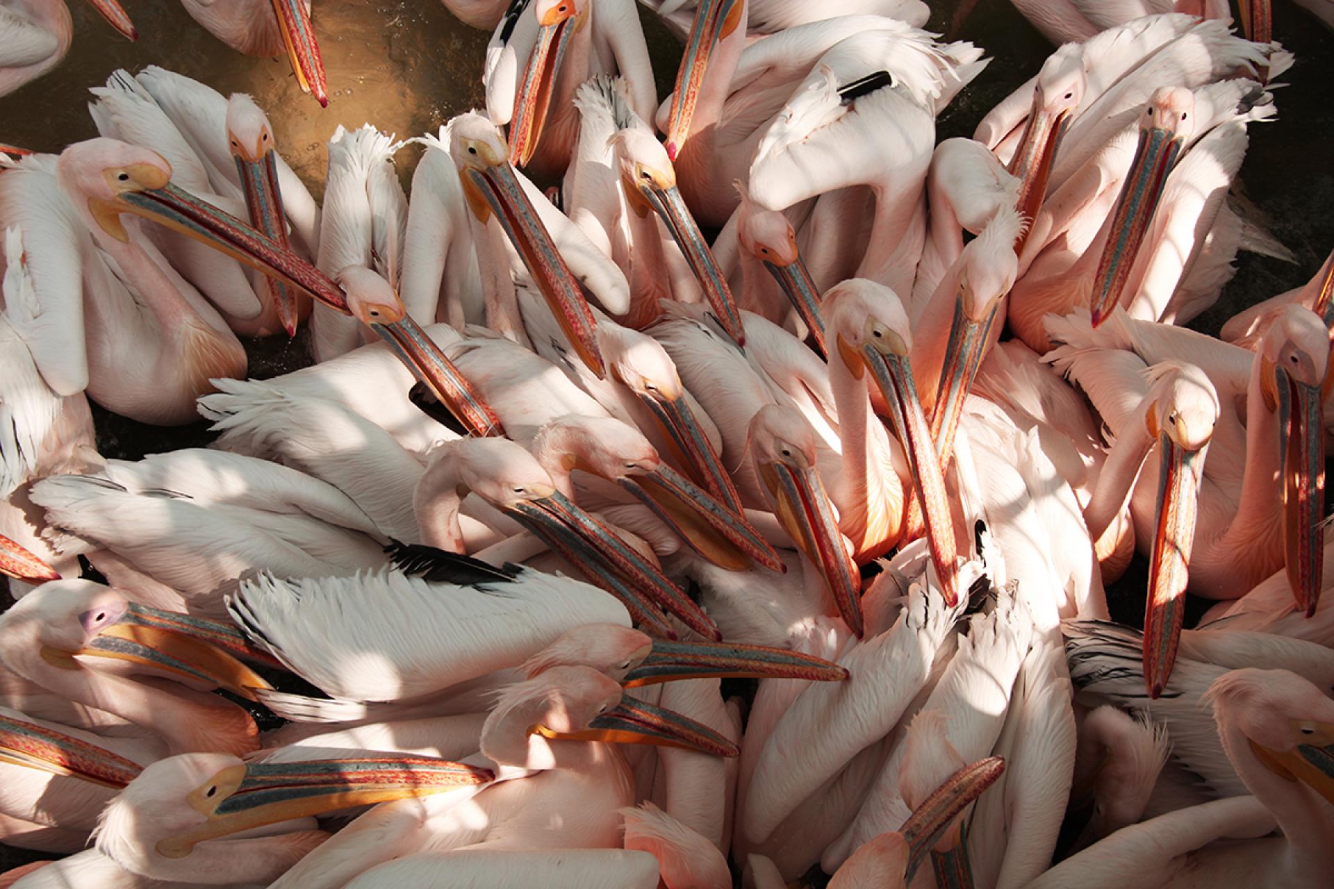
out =
[[[950,518],[950,501],[944,493],[944,476],[935,454],[931,429],[922,412],[916,384],[912,381],[907,344],[892,331],[883,329],[882,335],[883,348],[867,343],[862,347],[860,359],[875,377],[880,395],[884,396],[894,432],[907,454],[912,488],[916,492],[918,502],[922,504],[922,520],[926,525],[931,561],[940,578],[940,592],[944,601],[952,608],[958,602],[958,590],[955,589],[958,549],[954,545],[954,522]],[[847,348],[846,343],[839,345]]]

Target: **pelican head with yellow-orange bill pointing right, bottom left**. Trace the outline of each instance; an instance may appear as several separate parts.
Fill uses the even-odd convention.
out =
[[[228,876],[235,878],[236,866],[248,866],[243,864],[245,849],[255,844],[259,852],[264,838],[232,840],[232,834],[336,809],[475,786],[492,777],[487,769],[428,757],[267,764],[223,753],[185,753],[153,762],[107,805],[97,828],[97,850],[127,870],[157,880],[197,878],[197,865],[184,858],[225,854],[233,865]],[[223,838],[229,840],[225,846],[213,845]]]

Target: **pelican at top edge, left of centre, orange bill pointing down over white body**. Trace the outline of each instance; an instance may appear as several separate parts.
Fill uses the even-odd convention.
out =
[[[487,47],[487,116],[508,125],[510,163],[564,172],[579,133],[575,92],[592,75],[620,75],[644,120],[658,105],[648,47],[632,0],[512,4]]]

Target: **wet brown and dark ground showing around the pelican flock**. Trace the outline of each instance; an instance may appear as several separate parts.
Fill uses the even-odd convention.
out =
[[[115,33],[88,4],[72,0],[75,44],[65,63],[28,87],[0,99],[0,143],[60,151],[96,136],[85,104],[88,87],[116,68],[136,72],[149,64],[199,79],[219,92],[248,92],[275,127],[288,163],[320,196],[325,140],[338,124],[374,123],[400,139],[435,132],[440,123],[479,105],[480,71],[488,35],[455,20],[436,0],[317,0],[313,21],[328,72],[329,107],[301,95],[285,59],[241,56],[200,28],[172,0],[123,0],[139,28],[139,41]],[[816,0],[811,0],[816,1]],[[836,4],[835,4],[836,5]],[[992,61],[940,116],[938,136],[968,136],[982,116],[1037,73],[1053,47],[1007,0],[931,3],[930,28],[971,40]],[[659,95],[671,89],[679,45],[648,13],[642,16],[654,56]],[[1219,303],[1194,327],[1217,333],[1222,323],[1254,301],[1303,284],[1334,247],[1334,35],[1290,3],[1274,0],[1274,32],[1297,55],[1275,89],[1278,120],[1250,128],[1250,151],[1237,197],[1295,257],[1283,263],[1243,253],[1238,273]],[[416,155],[400,157],[404,185]],[[304,336],[248,343],[251,375],[267,377],[309,361]],[[203,423],[161,429],[93,408],[97,444],[108,457],[207,444]],[[1142,618],[1142,565],[1109,590],[1114,616]],[[1194,609],[1197,613],[1202,608]],[[0,872],[44,856],[0,846]]]

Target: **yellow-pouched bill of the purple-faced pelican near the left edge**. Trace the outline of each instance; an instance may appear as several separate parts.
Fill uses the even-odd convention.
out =
[[[197,637],[192,625],[195,618],[172,621],[165,614],[167,612],[156,609],[132,606],[83,648],[65,652],[47,645],[41,649],[41,657],[48,664],[67,669],[80,669],[80,664],[73,660],[76,656],[129,661],[187,685],[224,688],[248,701],[259,700],[255,689],[273,688],[255,670]],[[215,630],[209,634],[216,637],[220,633]]]

